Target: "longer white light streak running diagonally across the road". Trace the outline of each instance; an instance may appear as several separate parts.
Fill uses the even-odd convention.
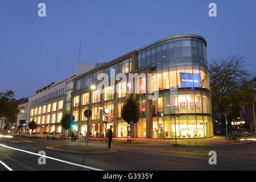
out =
[[[9,146],[6,146],[6,145],[4,145],[4,144],[0,144],[0,146],[5,147],[5,148],[10,148],[10,149],[12,149],[12,150],[17,150],[17,151],[21,151],[21,152],[26,152],[26,153],[32,154],[32,155],[41,156],[41,157],[48,158],[48,159],[52,159],[52,160],[57,160],[57,161],[59,161],[59,162],[66,163],[66,164],[70,164],[70,165],[73,165],[73,166],[78,166],[78,167],[82,167],[82,168],[86,168],[86,169],[91,169],[91,170],[94,170],[94,171],[103,171],[102,169],[97,169],[97,168],[93,168],[93,167],[89,167],[89,166],[83,166],[83,165],[81,165],[81,164],[71,163],[71,162],[68,162],[68,161],[65,161],[65,160],[61,160],[61,159],[57,159],[57,158],[52,158],[52,157],[45,156],[45,155],[36,154],[36,153],[34,153],[34,152],[30,152],[30,151],[26,151],[26,150],[21,150],[21,149],[19,149],[19,148],[9,147]]]

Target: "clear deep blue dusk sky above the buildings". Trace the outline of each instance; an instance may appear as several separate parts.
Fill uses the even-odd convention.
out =
[[[46,3],[46,17],[38,4]],[[208,5],[217,4],[217,17]],[[256,1],[52,1],[0,3],[0,92],[31,97],[35,90],[76,73],[81,62],[111,61],[156,40],[196,34],[208,60],[240,53],[255,76]]]

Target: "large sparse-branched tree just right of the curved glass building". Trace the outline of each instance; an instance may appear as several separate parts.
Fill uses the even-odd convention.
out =
[[[251,99],[251,93],[247,93],[242,86],[249,77],[245,62],[245,56],[233,55],[226,59],[213,60],[209,65],[213,118],[221,119],[222,127],[225,126],[224,113],[229,113],[230,123],[232,119],[238,117],[240,106],[245,104],[241,99],[243,98],[244,101]]]

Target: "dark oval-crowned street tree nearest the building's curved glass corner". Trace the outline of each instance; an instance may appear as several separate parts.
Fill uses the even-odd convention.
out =
[[[125,104],[122,107],[121,116],[123,120],[125,120],[128,124],[130,124],[131,120],[133,120],[134,123],[137,123],[139,121],[139,106],[137,101],[133,98],[133,96],[127,98]]]

